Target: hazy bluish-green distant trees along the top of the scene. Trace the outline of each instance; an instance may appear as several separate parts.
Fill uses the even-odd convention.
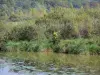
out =
[[[0,18],[3,17],[4,19],[5,15],[12,17],[12,12],[16,13],[19,10],[24,13],[27,12],[29,15],[31,8],[36,8],[39,11],[41,11],[41,8],[46,8],[46,10],[50,11],[51,8],[55,7],[97,7],[99,2],[99,0],[0,0]]]

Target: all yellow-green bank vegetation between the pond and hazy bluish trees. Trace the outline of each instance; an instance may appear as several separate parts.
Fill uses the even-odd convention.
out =
[[[30,8],[0,18],[0,51],[100,54],[99,7]]]

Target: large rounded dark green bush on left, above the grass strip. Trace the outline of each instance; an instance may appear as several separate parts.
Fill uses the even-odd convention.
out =
[[[8,33],[8,40],[13,41],[30,41],[37,38],[37,32],[33,26],[14,27],[11,32]]]

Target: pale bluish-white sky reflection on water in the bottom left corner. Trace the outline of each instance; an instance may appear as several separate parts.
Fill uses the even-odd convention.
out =
[[[0,59],[0,75],[51,75],[50,72],[43,72],[32,66],[25,66],[24,63],[3,62]]]

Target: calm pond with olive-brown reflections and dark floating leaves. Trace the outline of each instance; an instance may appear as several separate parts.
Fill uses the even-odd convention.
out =
[[[1,52],[0,75],[100,75],[100,56]]]

